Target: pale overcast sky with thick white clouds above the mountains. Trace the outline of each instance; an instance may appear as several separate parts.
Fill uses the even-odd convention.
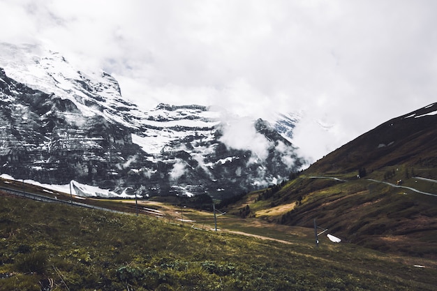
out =
[[[0,41],[103,68],[145,109],[299,111],[295,143],[316,160],[436,101],[436,11],[434,0],[0,0]]]

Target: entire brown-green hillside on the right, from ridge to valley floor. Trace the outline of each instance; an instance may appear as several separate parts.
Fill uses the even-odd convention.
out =
[[[387,121],[228,211],[303,227],[317,219],[343,240],[437,259],[436,107]]]

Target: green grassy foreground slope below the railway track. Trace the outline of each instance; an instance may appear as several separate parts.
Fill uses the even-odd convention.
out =
[[[0,196],[0,290],[435,290],[436,276],[353,244],[283,244]]]

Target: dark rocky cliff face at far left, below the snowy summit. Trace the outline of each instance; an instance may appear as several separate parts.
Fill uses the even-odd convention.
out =
[[[84,117],[71,100],[15,82],[4,70],[0,97],[1,171],[13,177],[114,186],[110,165],[140,150],[128,129]]]

